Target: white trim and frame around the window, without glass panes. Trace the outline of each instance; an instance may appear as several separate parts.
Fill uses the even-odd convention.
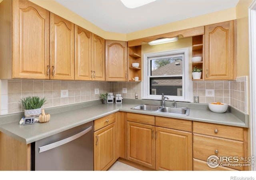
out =
[[[184,54],[184,64],[183,64],[183,71],[184,76],[182,76],[182,83],[184,86],[184,91],[182,92],[183,96],[167,96],[170,101],[176,100],[176,101],[182,101],[182,102],[193,102],[192,101],[192,80],[189,80],[189,48],[183,48],[178,50],[168,50],[168,51],[162,51],[162,52],[153,52],[153,53],[147,53],[143,54],[143,77],[144,77],[144,91],[143,91],[143,98],[142,99],[150,99],[150,100],[161,100],[161,95],[150,95],[149,94],[149,77],[148,77],[148,58],[154,57],[154,56],[164,56],[167,54]],[[169,76],[166,76],[169,77]]]

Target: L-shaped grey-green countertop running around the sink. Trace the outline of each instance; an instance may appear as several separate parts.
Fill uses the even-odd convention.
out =
[[[123,100],[122,104],[108,103],[102,104],[99,100],[94,102],[84,102],[63,107],[46,108],[45,112],[50,113],[51,118],[47,123],[35,123],[32,125],[19,125],[20,118],[24,113],[10,114],[0,116],[0,131],[16,138],[24,144],[30,144],[37,140],[46,138],[53,134],[74,128],[86,122],[96,120],[108,114],[118,111],[133,112],[140,114],[148,114],[154,116],[164,116],[170,118],[178,118],[184,120],[193,120],[200,122],[210,122],[216,124],[224,124],[230,126],[249,127],[248,115],[238,112],[233,108],[225,113],[215,113],[208,109],[207,104],[181,103],[177,102],[177,106],[190,108],[188,116],[164,114],[160,112],[148,112],[142,110],[132,110],[134,106],[140,104],[159,105],[160,101],[152,100]],[[171,102],[166,102],[166,106],[170,106]],[[17,117],[20,117],[17,119]],[[8,120],[10,122],[8,122]],[[4,122],[1,124],[1,122]]]

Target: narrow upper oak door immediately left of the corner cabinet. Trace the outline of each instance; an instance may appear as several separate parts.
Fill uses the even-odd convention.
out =
[[[92,34],[92,80],[105,80],[105,40]]]

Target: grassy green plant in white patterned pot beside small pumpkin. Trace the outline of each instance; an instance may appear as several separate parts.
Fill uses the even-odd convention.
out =
[[[28,96],[26,98],[22,98],[20,102],[25,109],[25,117],[38,117],[42,113],[41,107],[46,104],[46,98]]]

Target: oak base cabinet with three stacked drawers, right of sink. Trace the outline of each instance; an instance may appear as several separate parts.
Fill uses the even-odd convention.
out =
[[[193,122],[194,170],[209,170],[206,161],[211,155],[231,158],[248,157],[247,146],[247,128]],[[225,162],[223,161],[223,163]],[[219,165],[217,168],[220,170],[248,170],[248,166],[224,167]]]

